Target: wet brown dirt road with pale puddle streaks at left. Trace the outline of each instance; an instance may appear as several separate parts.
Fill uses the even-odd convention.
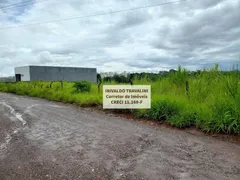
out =
[[[240,179],[240,146],[0,93],[0,179]]]

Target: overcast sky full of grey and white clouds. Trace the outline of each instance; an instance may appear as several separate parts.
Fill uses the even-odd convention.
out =
[[[15,66],[97,67],[98,72],[230,68],[240,58],[240,1],[188,0],[51,24],[1,29],[171,0],[0,0],[0,76]],[[29,1],[29,0],[28,0]]]

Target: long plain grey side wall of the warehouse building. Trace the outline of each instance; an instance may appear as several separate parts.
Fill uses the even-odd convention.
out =
[[[97,82],[96,68],[30,66],[30,80]]]

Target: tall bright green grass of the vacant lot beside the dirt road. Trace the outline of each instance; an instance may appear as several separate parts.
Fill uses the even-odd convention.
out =
[[[102,104],[102,92],[98,93],[97,84],[90,84],[89,92],[78,91],[74,82],[63,82],[63,86],[60,82],[50,84],[0,83],[0,91],[80,106]],[[104,84],[116,82],[103,82],[101,86]],[[148,77],[135,78],[133,84],[152,87],[152,108],[134,110],[136,117],[166,121],[180,128],[196,126],[206,132],[240,134],[240,74],[237,70],[223,73],[216,66],[193,76],[179,67],[177,72],[159,76],[154,81]]]

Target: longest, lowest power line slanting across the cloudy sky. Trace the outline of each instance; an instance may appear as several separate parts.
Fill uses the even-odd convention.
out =
[[[187,0],[165,2],[165,3],[161,3],[161,4],[142,6],[142,7],[130,8],[130,9],[123,9],[123,10],[117,10],[117,11],[111,11],[111,12],[105,12],[105,13],[99,13],[99,14],[91,14],[91,15],[86,15],[86,16],[71,17],[71,18],[66,18],[66,19],[58,19],[58,20],[54,20],[54,21],[31,23],[31,24],[20,24],[20,25],[17,25],[17,26],[3,27],[3,28],[0,28],[0,30],[12,29],[12,28],[21,28],[21,27],[35,26],[35,25],[42,25],[42,24],[50,24],[50,23],[70,21],[70,20],[75,20],[75,19],[85,19],[85,18],[104,16],[104,15],[109,15],[109,14],[117,14],[117,13],[122,13],[122,12],[127,12],[127,11],[135,11],[135,10],[140,10],[140,9],[158,7],[158,6],[163,6],[163,5],[175,4],[175,3],[181,3],[181,2],[185,2],[185,1],[187,1]]]

